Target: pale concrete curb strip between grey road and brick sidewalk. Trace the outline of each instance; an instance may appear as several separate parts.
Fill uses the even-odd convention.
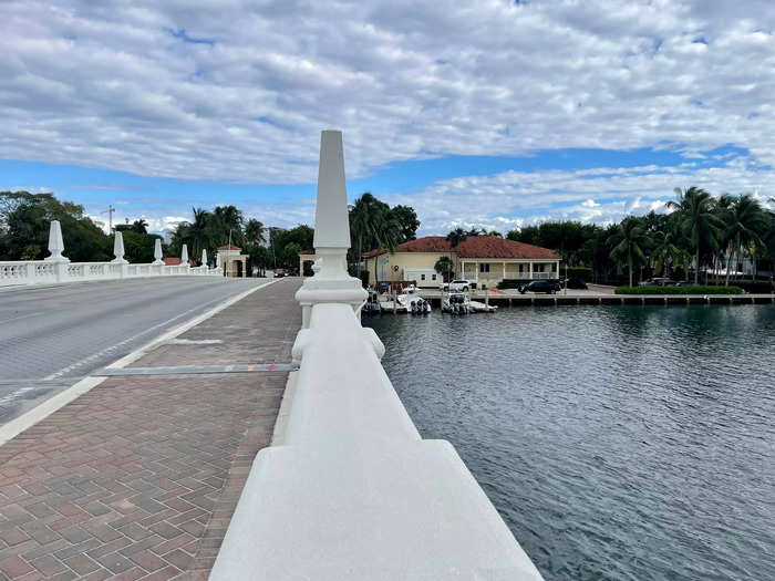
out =
[[[268,287],[269,284],[272,284],[277,282],[278,280],[283,280],[283,279],[273,279],[270,280],[269,282],[266,282],[264,284],[260,284],[258,287],[255,287],[252,289],[248,289],[245,292],[241,292],[239,294],[236,294],[229,299],[226,299],[223,303],[218,304],[217,307],[214,307],[206,313],[203,313],[190,321],[182,324],[180,326],[173,329],[172,331],[168,331],[167,333],[164,333],[162,336],[151,341],[149,343],[145,344],[144,346],[140,347],[137,351],[130,353],[128,355],[120,359],[118,361],[112,363],[108,365],[108,367],[124,367],[128,363],[132,363],[133,361],[142,357],[148,350],[153,349],[156,346],[158,343],[163,343],[164,341],[168,341],[169,339],[175,338],[176,335],[179,335],[180,333],[184,333],[185,331],[188,331],[192,326],[195,326],[199,324],[203,321],[206,321],[214,314],[219,313],[227,307],[232,305],[235,302],[240,301],[245,299],[248,294],[251,294],[256,292],[259,289],[264,289]],[[49,417],[51,414],[60,409],[61,407],[64,407],[68,405],[70,402],[76,400],[84,393],[91,391],[92,388],[96,387],[100,385],[102,382],[107,380],[108,377],[84,377],[76,384],[68,387],[63,392],[58,393],[53,397],[46,400],[42,404],[33,407],[29,412],[20,415],[16,419],[11,419],[9,423],[6,425],[0,426],[0,446],[6,444],[8,440],[13,439],[17,437],[19,434],[24,432],[25,429],[29,429],[30,427],[34,426],[38,422],[45,419]]]

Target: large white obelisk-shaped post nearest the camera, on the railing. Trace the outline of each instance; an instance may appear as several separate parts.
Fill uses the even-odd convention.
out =
[[[301,304],[302,326],[309,328],[312,307],[319,303],[350,304],[360,317],[368,293],[361,281],[348,274],[350,248],[348,193],[344,181],[342,132],[324,131],[320,136],[318,198],[314,211],[314,251],[320,270],[304,279],[296,300]]]

